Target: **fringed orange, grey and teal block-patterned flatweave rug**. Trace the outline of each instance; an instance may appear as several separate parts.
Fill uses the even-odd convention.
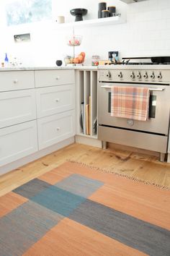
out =
[[[170,255],[170,192],[66,162],[0,198],[0,255]]]

